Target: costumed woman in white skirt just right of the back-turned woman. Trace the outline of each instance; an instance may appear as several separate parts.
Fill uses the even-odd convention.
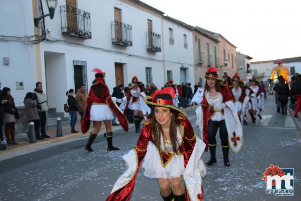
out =
[[[144,87],[142,82],[138,81],[137,76],[132,78],[132,83],[134,87],[130,89],[130,92],[126,94],[127,105],[126,107],[134,110],[134,123],[135,123],[135,131],[139,133],[140,131],[140,124],[143,119],[143,112],[142,112],[142,104],[141,101],[145,98]],[[127,108],[126,108],[127,109]],[[123,114],[125,114],[126,109],[124,110]]]

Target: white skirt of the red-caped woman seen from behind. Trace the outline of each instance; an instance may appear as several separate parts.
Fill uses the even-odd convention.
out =
[[[111,120],[113,118],[113,114],[107,104],[91,106],[90,120],[100,122],[102,120]]]

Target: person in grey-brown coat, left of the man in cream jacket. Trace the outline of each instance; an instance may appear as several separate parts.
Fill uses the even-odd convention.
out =
[[[34,123],[34,132],[35,132],[35,139],[37,140],[44,140],[40,136],[39,128],[40,128],[40,118],[37,113],[36,108],[37,102],[33,99],[33,93],[28,92],[24,98],[24,106],[25,106],[25,116],[28,120],[28,123]]]

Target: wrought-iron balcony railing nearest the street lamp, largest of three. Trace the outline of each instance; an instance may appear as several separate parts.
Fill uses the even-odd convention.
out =
[[[91,17],[89,12],[71,6],[61,6],[62,34],[91,39]]]

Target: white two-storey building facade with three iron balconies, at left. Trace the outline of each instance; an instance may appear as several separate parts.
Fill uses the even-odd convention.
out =
[[[1,82],[11,88],[17,106],[42,82],[50,108],[63,111],[66,91],[82,83],[89,89],[95,67],[106,72],[111,93],[134,75],[143,83],[163,85],[162,12],[139,1],[59,1],[54,18],[45,18],[46,40],[33,44],[26,36],[41,30],[33,24],[34,16],[41,15],[40,4],[47,14],[44,1],[6,0],[2,5],[1,15],[11,21],[0,25],[5,36],[0,55],[9,60],[0,66]]]

